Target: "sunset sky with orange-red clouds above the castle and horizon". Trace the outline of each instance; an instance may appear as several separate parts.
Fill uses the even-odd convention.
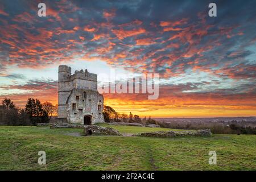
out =
[[[214,1],[217,17],[210,2],[1,0],[0,98],[57,104],[57,69],[67,64],[72,73],[159,73],[158,100],[104,94],[119,113],[255,116],[256,1]]]

